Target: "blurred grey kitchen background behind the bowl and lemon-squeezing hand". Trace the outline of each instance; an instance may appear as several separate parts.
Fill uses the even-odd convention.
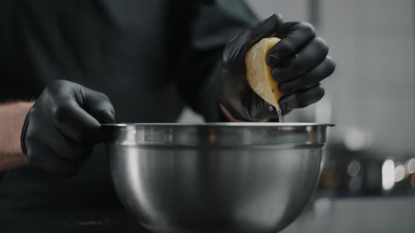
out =
[[[311,22],[337,62],[317,105],[284,119],[336,124],[319,189],[290,232],[415,232],[415,1],[249,0]],[[200,122],[186,109],[182,122]]]

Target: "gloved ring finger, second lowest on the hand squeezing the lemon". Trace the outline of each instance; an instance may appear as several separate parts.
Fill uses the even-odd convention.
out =
[[[312,86],[318,84],[321,80],[326,79],[326,77],[333,74],[334,69],[336,69],[336,63],[331,57],[326,57],[323,62],[317,65],[317,67],[314,67],[314,69],[307,74],[279,84],[279,90],[283,93],[283,95],[290,95],[295,91],[311,88]]]

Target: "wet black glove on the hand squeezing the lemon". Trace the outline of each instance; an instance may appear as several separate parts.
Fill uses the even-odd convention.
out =
[[[224,48],[219,76],[220,99],[236,119],[260,121],[278,118],[275,108],[250,88],[245,74],[246,52],[261,39],[271,36],[281,39],[269,51],[266,61],[273,68],[272,74],[283,93],[279,100],[283,114],[320,100],[324,88],[319,82],[335,69],[335,63],[327,56],[326,42],[315,35],[309,23],[284,23],[281,15],[272,15],[258,22]]]

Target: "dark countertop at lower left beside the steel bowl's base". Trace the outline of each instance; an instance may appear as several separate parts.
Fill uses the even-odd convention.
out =
[[[20,210],[0,218],[2,233],[148,233],[121,209]],[[4,217],[6,216],[6,217]]]

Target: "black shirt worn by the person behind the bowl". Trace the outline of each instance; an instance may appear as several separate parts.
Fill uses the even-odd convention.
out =
[[[174,122],[184,105],[217,121],[214,68],[255,22],[239,0],[0,0],[0,101],[67,79],[106,93],[118,122]],[[0,181],[0,232],[137,232],[97,146],[74,178],[30,166]]]

